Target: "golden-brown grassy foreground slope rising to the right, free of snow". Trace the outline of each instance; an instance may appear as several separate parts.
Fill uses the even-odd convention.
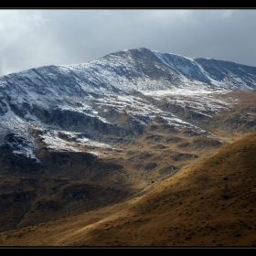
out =
[[[144,197],[1,233],[2,245],[255,246],[256,133],[180,170]]]

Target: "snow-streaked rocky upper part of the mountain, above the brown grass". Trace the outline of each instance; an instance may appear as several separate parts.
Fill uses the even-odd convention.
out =
[[[210,118],[234,103],[216,97],[227,91],[256,91],[256,68],[134,48],[89,63],[28,69],[0,78],[1,143],[14,133],[34,144],[30,128],[51,131],[41,133],[48,144],[52,131],[112,143],[144,133],[159,118],[175,130],[207,133],[163,101]]]

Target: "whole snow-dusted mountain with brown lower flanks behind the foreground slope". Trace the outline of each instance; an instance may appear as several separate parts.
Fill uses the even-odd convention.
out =
[[[156,191],[255,130],[255,91],[255,67],[149,48],[0,77],[0,231]]]

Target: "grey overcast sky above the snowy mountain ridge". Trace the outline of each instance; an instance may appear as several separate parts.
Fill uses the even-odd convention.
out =
[[[256,9],[0,9],[0,76],[141,47],[256,67]]]

